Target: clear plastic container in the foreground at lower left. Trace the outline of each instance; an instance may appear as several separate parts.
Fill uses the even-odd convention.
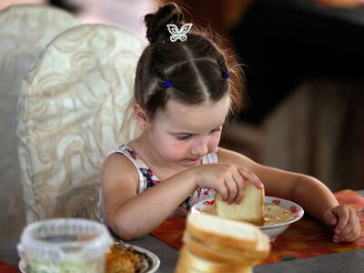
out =
[[[29,224],[18,250],[29,273],[103,273],[113,239],[105,225],[81,218],[55,218]]]

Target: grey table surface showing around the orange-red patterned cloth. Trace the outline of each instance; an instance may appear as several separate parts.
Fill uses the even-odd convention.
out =
[[[364,190],[357,191],[364,197]],[[114,238],[117,237],[112,234]],[[167,244],[147,235],[143,238],[128,241],[127,243],[140,248],[146,248],[157,255],[160,259],[160,268],[157,272],[174,272],[176,267],[178,251]],[[17,268],[19,257],[16,250],[17,242],[9,241],[0,243],[0,260]],[[330,272],[330,273],[361,273],[364,272],[364,249],[346,251],[323,255],[313,258],[300,258],[290,261],[278,262],[268,265],[261,265],[254,268],[254,273],[275,273],[275,272]]]

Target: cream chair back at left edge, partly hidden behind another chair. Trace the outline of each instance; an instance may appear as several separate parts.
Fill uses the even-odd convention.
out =
[[[76,18],[46,5],[11,5],[0,12],[0,233],[24,226],[15,142],[15,106],[21,83],[42,50],[56,35],[77,25]],[[17,202],[17,203],[16,203]]]

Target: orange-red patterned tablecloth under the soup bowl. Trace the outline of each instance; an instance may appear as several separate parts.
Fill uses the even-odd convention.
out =
[[[355,191],[345,189],[335,193],[340,204],[354,207],[360,218],[361,237],[353,243],[333,243],[333,233],[318,220],[304,216],[290,225],[271,244],[271,253],[262,264],[276,263],[298,258],[310,258],[330,253],[364,248],[364,197]],[[173,248],[181,248],[186,227],[186,217],[168,218],[152,235]]]

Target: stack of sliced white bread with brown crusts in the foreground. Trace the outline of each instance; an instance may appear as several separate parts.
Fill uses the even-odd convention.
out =
[[[176,273],[252,272],[267,258],[269,238],[252,224],[189,214]]]

